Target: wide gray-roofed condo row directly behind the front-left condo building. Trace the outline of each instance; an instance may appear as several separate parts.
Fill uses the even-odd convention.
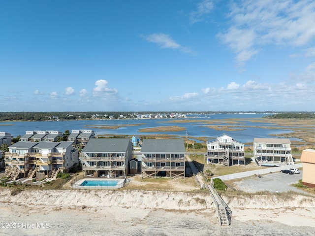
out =
[[[57,142],[57,138],[62,136],[63,133],[60,131],[26,131],[26,134],[23,135],[20,140],[32,142]]]

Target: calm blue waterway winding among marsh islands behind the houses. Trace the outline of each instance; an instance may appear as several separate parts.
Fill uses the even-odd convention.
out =
[[[97,135],[111,134],[111,135],[153,135],[153,134],[168,134],[186,136],[186,131],[189,136],[193,137],[217,137],[224,134],[232,136],[235,140],[240,142],[252,142],[254,137],[272,137],[270,134],[283,134],[292,132],[290,128],[279,129],[263,129],[255,127],[270,127],[270,123],[263,122],[251,122],[250,120],[239,121],[235,124],[239,131],[217,131],[206,127],[207,124],[201,122],[201,120],[221,120],[218,124],[214,125],[229,125],[224,123],[226,119],[254,119],[261,118],[268,114],[211,114],[211,115],[188,115],[191,122],[178,123],[177,119],[139,119],[139,120],[78,120],[78,121],[40,121],[40,122],[0,122],[0,132],[7,132],[13,136],[24,135],[26,131],[34,130],[58,130],[64,132],[65,130],[94,130]],[[195,118],[197,117],[197,118]],[[172,122],[174,121],[174,122]],[[171,123],[170,123],[171,122]],[[120,125],[132,125],[139,124],[137,126],[126,126],[118,129],[97,129],[89,126],[120,126]],[[185,127],[186,131],[180,132],[139,132],[144,128],[155,128],[159,126],[180,126]],[[251,127],[247,127],[251,126]],[[294,139],[294,138],[292,138]],[[291,139],[291,140],[292,140]],[[294,139],[296,140],[296,139]]]

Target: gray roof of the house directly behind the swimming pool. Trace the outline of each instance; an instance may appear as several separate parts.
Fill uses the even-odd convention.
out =
[[[91,138],[82,152],[126,152],[129,138]]]

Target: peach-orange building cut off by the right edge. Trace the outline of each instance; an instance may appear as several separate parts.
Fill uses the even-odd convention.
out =
[[[302,184],[315,188],[315,150],[303,150],[300,160],[303,162]]]

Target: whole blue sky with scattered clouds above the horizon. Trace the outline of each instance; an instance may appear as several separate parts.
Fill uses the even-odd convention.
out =
[[[313,0],[0,0],[0,111],[314,111]]]

